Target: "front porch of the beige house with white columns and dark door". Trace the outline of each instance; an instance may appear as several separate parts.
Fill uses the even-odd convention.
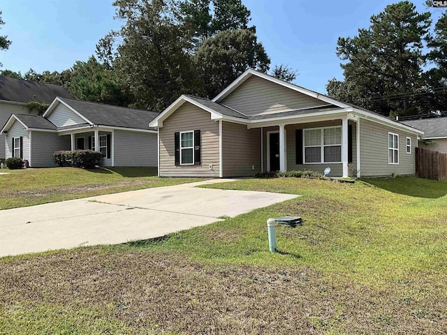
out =
[[[261,171],[330,168],[332,177],[360,177],[357,117],[302,119],[300,123],[261,126]],[[250,128],[255,128],[250,126]]]

